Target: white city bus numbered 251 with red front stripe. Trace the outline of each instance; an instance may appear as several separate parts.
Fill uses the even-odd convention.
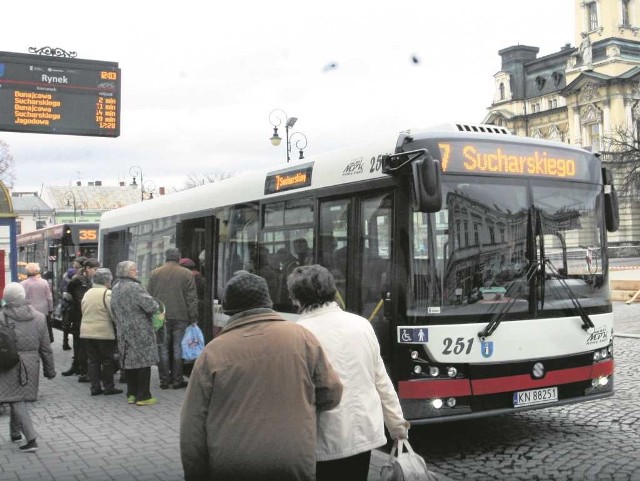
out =
[[[489,125],[410,130],[106,212],[100,259],[146,283],[169,247],[199,264],[200,324],[224,326],[225,282],[286,281],[318,263],[367,318],[404,414],[426,424],[613,394],[607,232],[612,176],[597,155]]]

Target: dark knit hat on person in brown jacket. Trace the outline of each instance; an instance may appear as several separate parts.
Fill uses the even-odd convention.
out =
[[[232,315],[260,307],[273,307],[267,281],[247,271],[236,272],[225,287],[222,311]]]

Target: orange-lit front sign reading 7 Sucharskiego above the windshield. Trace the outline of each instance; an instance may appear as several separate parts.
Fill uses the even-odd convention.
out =
[[[589,180],[588,152],[505,142],[440,141],[442,171]]]

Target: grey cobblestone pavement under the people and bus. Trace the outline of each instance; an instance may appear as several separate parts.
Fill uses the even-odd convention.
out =
[[[620,337],[613,398],[414,427],[414,448],[451,479],[640,480],[640,304],[616,303],[614,311]],[[55,334],[60,373],[70,366],[71,352],[62,350],[62,336]],[[184,390],[160,390],[158,383],[153,368],[152,392],[160,402],[138,407],[127,405],[124,395],[90,396],[76,376],[42,378],[40,400],[30,406],[37,453],[17,452],[9,417],[0,415],[0,481],[182,480],[178,417]],[[379,479],[387,457],[373,452],[369,481]]]

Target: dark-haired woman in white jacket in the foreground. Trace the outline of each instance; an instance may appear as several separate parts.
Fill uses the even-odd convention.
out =
[[[344,385],[340,405],[318,414],[317,481],[366,481],[371,450],[406,438],[410,424],[380,357],[371,323],[335,302],[333,275],[320,265],[296,267],[287,279],[298,324],[313,332]]]

